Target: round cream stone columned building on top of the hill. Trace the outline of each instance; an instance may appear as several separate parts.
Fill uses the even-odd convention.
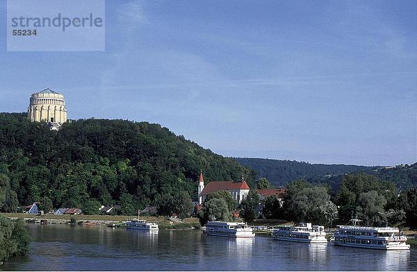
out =
[[[31,95],[28,119],[32,122],[63,124],[67,121],[67,108],[62,94],[47,88]]]

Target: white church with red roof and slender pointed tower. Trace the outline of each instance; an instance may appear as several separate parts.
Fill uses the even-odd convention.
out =
[[[203,203],[206,196],[217,191],[227,191],[234,198],[236,203],[241,203],[249,194],[250,187],[242,176],[240,182],[233,181],[211,181],[204,186],[203,173],[200,173],[198,180],[198,203]]]

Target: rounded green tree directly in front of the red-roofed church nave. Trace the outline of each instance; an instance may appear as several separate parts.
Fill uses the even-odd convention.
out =
[[[204,226],[208,221],[230,221],[231,214],[226,201],[222,198],[211,198],[204,201],[202,210],[199,211],[199,221]]]

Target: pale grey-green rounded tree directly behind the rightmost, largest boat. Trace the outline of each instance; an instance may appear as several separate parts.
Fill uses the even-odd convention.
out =
[[[378,194],[377,191],[372,190],[366,193],[359,194],[357,214],[361,219],[364,219],[368,226],[381,224],[384,222],[384,206],[386,199],[384,196]]]

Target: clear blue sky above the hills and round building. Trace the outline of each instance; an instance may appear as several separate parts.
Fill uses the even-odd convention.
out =
[[[7,52],[0,111],[149,121],[227,156],[417,161],[417,1],[106,1],[106,51]]]

